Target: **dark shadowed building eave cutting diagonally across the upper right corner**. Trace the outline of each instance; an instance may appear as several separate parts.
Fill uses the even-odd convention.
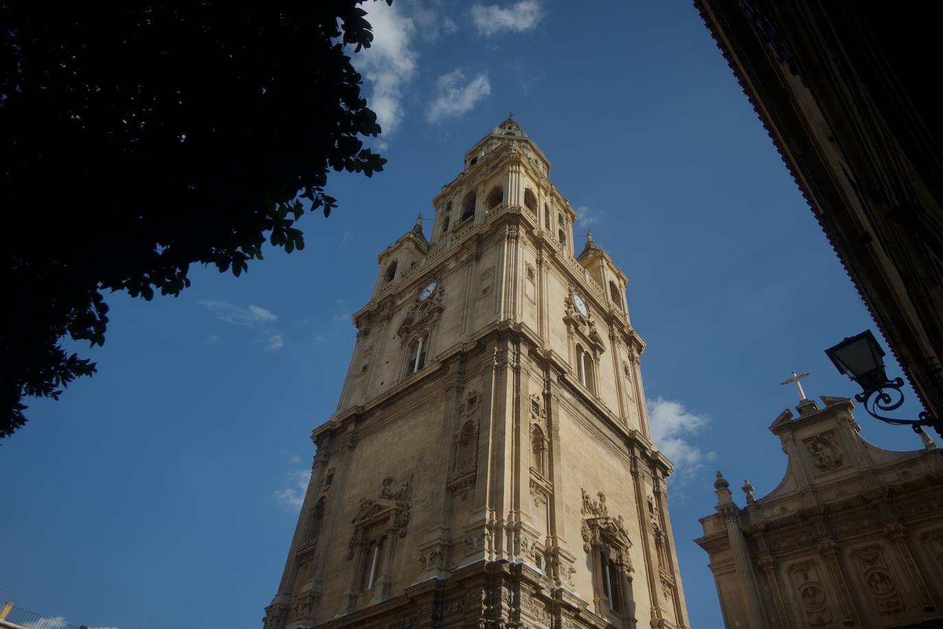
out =
[[[907,378],[941,417],[936,21],[930,5],[908,4],[695,0]]]

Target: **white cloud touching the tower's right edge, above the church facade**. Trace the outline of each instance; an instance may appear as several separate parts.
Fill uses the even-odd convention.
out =
[[[714,453],[704,452],[696,439],[710,418],[662,397],[649,400],[648,411],[655,447],[674,464],[674,476],[680,482],[698,472],[704,460],[714,459]]]

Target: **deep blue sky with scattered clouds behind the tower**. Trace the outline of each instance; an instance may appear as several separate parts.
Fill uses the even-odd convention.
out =
[[[257,629],[375,256],[514,111],[579,208],[577,241],[592,229],[629,277],[688,610],[722,626],[692,541],[715,471],[774,488],[768,427],[797,402],[779,383],[808,371],[810,396],[851,396],[822,350],[875,326],[690,2],[587,7],[368,5],[376,45],[355,63],[386,170],[332,175],[339,209],[303,219],[304,251],[238,279],[194,270],[176,299],[108,298],[105,347],[81,349],[99,372],[0,448],[0,599],[90,627]],[[866,439],[920,447],[856,414]]]

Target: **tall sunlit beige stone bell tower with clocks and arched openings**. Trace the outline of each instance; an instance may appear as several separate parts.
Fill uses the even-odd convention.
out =
[[[378,257],[265,629],[687,627],[626,276],[513,120]]]

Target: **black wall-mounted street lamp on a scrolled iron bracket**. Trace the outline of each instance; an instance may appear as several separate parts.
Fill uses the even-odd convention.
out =
[[[930,417],[926,411],[918,415],[918,420],[898,420],[876,412],[887,412],[901,407],[903,379],[887,379],[884,350],[870,330],[828,348],[825,350],[825,356],[835,363],[838,372],[850,377],[863,389],[861,393],[855,394],[854,399],[865,406],[871,417],[882,422],[911,426],[916,433],[922,432],[921,426],[933,426],[940,437],[943,437],[943,422]],[[893,397],[888,390],[894,391]]]

